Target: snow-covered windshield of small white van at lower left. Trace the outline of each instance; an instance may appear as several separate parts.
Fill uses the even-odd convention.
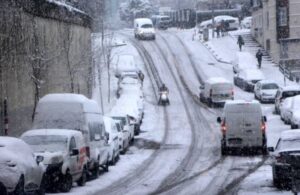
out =
[[[33,135],[22,138],[34,152],[66,151],[68,137],[63,135]]]

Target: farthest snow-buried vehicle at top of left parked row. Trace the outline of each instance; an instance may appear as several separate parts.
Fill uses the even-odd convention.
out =
[[[136,72],[138,73],[139,69],[135,63],[134,57],[132,55],[119,55],[118,62],[115,69],[115,76],[121,78],[126,73]]]

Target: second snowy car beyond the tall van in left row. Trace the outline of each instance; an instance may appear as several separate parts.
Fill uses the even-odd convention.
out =
[[[114,119],[113,119],[114,120]],[[120,120],[114,120],[119,134],[119,149],[121,154],[125,154],[130,144],[129,131],[124,129],[124,125]]]

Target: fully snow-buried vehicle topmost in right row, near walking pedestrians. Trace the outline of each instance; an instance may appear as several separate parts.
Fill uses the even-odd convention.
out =
[[[232,65],[233,73],[237,74],[241,70],[256,69],[257,59],[249,52],[237,52]]]

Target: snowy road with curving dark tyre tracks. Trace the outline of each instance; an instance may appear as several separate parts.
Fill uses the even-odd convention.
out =
[[[232,80],[232,66],[191,41],[191,31],[158,32],[156,41],[137,41],[132,34],[128,30],[119,36],[132,44],[125,53],[128,49],[134,53],[147,73],[145,132],[109,173],[74,188],[72,194],[281,193],[272,187],[270,166],[262,155],[221,156],[216,123],[221,109],[198,100],[203,80],[212,76]],[[171,105],[166,108],[156,105],[161,83],[170,90]],[[235,98],[251,100],[253,94],[235,87]],[[273,146],[288,127],[273,115],[273,105],[263,105],[263,110],[268,117],[268,144]],[[267,175],[264,183],[255,183],[262,175]]]

